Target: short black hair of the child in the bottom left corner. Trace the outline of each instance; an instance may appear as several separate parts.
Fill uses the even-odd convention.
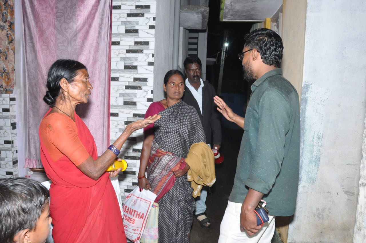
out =
[[[47,188],[35,180],[0,179],[0,242],[13,243],[19,231],[35,229],[49,198]]]

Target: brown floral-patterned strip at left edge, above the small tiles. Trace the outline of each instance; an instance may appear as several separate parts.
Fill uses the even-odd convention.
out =
[[[0,0],[0,94],[14,90],[14,0]]]

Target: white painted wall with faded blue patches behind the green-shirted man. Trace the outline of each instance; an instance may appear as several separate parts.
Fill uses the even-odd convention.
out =
[[[307,1],[300,182],[288,242],[352,242],[366,113],[365,22],[363,0]]]

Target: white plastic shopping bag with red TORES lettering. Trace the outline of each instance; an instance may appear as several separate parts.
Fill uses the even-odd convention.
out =
[[[123,203],[123,226],[127,239],[139,243],[156,194],[136,187]]]

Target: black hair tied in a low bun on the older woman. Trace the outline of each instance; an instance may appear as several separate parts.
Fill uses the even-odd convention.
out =
[[[81,69],[86,69],[84,64],[79,61],[70,59],[59,59],[55,61],[48,70],[47,75],[47,89],[46,95],[43,97],[46,104],[53,106],[56,102],[57,96],[60,94],[61,79],[65,78],[67,82],[72,83],[78,71]]]

